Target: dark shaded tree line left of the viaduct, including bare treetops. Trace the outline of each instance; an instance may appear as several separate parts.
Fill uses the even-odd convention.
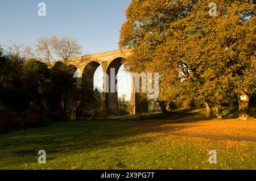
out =
[[[86,105],[76,68],[68,65],[81,51],[77,41],[52,37],[37,43],[35,53],[0,47],[0,132],[100,115],[101,92],[96,89],[93,104]],[[52,64],[55,58],[63,61]]]

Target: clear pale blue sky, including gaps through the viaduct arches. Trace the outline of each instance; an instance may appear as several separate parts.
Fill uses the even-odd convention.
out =
[[[46,16],[38,16],[38,3],[46,3]],[[33,45],[40,36],[72,36],[84,54],[118,49],[119,30],[131,0],[0,0],[0,44]],[[101,68],[94,87],[102,87]],[[130,78],[118,72],[118,96],[130,99]]]

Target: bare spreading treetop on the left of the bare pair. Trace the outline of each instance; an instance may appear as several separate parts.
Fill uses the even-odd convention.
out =
[[[31,47],[26,48],[26,54],[27,56],[30,56],[31,58],[36,58],[42,62],[45,62],[48,64],[50,68],[52,68],[51,62],[55,60],[54,52],[55,49],[55,41],[57,37],[52,36],[50,38],[48,37],[40,37],[36,41],[36,49],[33,50]]]

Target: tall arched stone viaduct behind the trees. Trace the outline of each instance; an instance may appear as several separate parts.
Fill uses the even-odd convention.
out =
[[[117,115],[118,113],[118,95],[114,89],[110,90],[110,78],[113,78],[110,74],[110,70],[114,68],[114,76],[117,75],[120,66],[125,62],[127,56],[130,54],[130,50],[112,50],[109,52],[90,54],[88,56],[72,58],[68,65],[75,66],[79,70],[79,77],[82,79],[82,91],[85,97],[85,103],[90,104],[93,98],[93,76],[94,72],[101,66],[104,77],[102,85],[102,103],[101,110],[105,110],[108,113]],[[117,86],[117,79],[114,77],[114,87]],[[134,82],[135,78],[132,78],[131,87],[131,100],[130,100],[130,114],[134,115],[137,112],[147,112],[147,100],[143,100],[141,94],[135,93]],[[142,101],[143,100],[143,101]]]

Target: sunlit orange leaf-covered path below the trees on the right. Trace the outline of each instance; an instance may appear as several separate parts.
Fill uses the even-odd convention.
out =
[[[226,120],[129,120],[127,123],[145,132],[209,138],[217,141],[256,142],[256,119]]]

